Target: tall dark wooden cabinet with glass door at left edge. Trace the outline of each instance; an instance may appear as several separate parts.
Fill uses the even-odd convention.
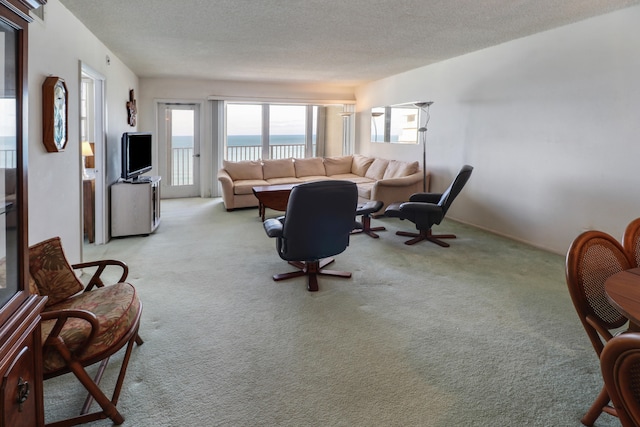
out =
[[[40,312],[28,292],[27,48],[29,10],[0,0],[0,427],[42,426]]]

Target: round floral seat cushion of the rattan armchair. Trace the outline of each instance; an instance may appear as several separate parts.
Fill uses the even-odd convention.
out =
[[[102,359],[106,351],[114,353],[126,344],[114,347],[121,341],[131,328],[137,325],[140,318],[142,304],[135,288],[129,283],[117,283],[103,288],[96,288],[89,292],[83,292],[56,305],[49,306],[45,312],[53,310],[86,310],[93,313],[100,325],[92,342],[82,346],[91,333],[91,325],[78,318],[70,318],[65,323],[60,337],[71,351],[74,357],[80,360],[90,360],[93,357]],[[42,322],[42,342],[44,343],[51,333],[55,320]],[[84,349],[84,351],[82,351]],[[52,347],[44,348],[44,373],[51,373],[66,366],[64,359]]]

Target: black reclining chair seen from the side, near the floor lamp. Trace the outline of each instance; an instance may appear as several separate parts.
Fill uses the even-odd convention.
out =
[[[406,245],[413,245],[423,240],[436,243],[443,247],[449,247],[449,244],[440,239],[455,239],[454,234],[433,234],[431,227],[440,224],[447,214],[451,203],[467,183],[473,167],[465,165],[460,169],[458,176],[453,180],[449,188],[444,193],[415,193],[412,194],[408,202],[392,203],[387,206],[384,214],[388,217],[408,219],[416,225],[419,233],[409,233],[406,231],[397,231],[398,236],[412,237],[411,240],[404,242]]]

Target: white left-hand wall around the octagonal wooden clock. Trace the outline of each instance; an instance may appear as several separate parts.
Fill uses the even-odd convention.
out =
[[[119,173],[120,135],[135,130],[127,124],[126,102],[138,79],[58,0],[47,2],[45,14],[44,22],[29,27],[29,242],[60,236],[70,261],[77,262],[82,242],[80,62],[106,78],[107,182]],[[60,153],[48,153],[42,144],[41,87],[48,75],[63,78],[69,91],[69,142]]]

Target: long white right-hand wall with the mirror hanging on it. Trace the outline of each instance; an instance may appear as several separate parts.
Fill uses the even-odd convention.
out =
[[[421,159],[370,143],[368,110],[434,101],[431,189],[475,167],[450,217],[557,253],[585,229],[620,239],[640,216],[639,22],[635,6],[358,87],[357,150]]]

